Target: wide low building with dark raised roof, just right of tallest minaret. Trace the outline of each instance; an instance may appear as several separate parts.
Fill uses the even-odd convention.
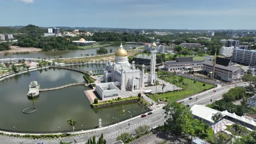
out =
[[[193,61],[193,57],[177,57],[176,61],[166,61],[165,70],[197,70],[202,69],[202,60]]]

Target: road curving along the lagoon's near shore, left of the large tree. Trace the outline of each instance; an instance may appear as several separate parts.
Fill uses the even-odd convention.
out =
[[[89,137],[96,136],[96,139],[100,137],[101,133],[103,133],[104,138],[107,140],[107,143],[113,143],[117,139],[118,135],[121,133],[133,133],[135,134],[135,129],[139,127],[139,125],[149,125],[150,127],[155,127],[156,125],[164,125],[164,111],[163,109],[157,109],[153,111],[152,115],[147,115],[144,118],[138,117],[131,121],[128,121],[123,124],[116,125],[115,127],[110,127],[108,129],[104,129],[101,131],[95,131],[93,133],[80,135],[75,137],[77,143],[86,143]],[[130,125],[129,125],[130,123]],[[62,142],[72,142],[74,141],[74,137],[69,137],[66,139],[61,139]],[[28,139],[18,139],[13,137],[4,137],[0,136],[0,143],[5,144],[13,144],[13,143],[27,143],[27,144],[34,144],[34,143],[60,143],[60,140],[28,140]]]

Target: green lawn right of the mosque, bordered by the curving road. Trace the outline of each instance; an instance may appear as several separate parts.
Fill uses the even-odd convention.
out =
[[[179,78],[180,76],[177,76],[177,75],[160,77],[160,79],[170,83],[172,83],[174,79],[178,81]],[[203,86],[202,82],[196,81],[196,83],[194,83],[194,80],[187,79],[187,78],[184,78],[183,82],[187,83],[188,86],[187,87],[185,85],[180,86],[178,82],[174,84],[178,87],[183,88],[182,91],[153,94],[150,98],[153,99],[154,101],[158,101],[159,98],[161,98],[162,100],[165,100],[165,98],[167,97],[168,101],[176,101],[178,99],[189,97],[189,95],[200,93],[202,91],[206,91],[207,89],[215,87],[214,85],[211,85],[208,83],[205,83],[205,86]]]

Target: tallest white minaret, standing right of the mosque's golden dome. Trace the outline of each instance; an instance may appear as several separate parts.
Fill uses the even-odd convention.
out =
[[[150,85],[154,85],[155,84],[155,77],[156,77],[156,73],[155,73],[155,64],[156,64],[156,44],[154,43],[153,45],[153,50],[151,51],[151,63],[150,63],[150,74],[149,74],[149,78],[150,78]]]

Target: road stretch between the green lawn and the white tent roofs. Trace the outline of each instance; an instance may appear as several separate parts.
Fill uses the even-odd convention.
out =
[[[207,93],[203,93],[203,94],[197,94],[194,95],[193,99],[189,100],[189,98],[183,99],[183,100],[179,100],[179,101],[184,101],[185,105],[190,105],[193,106],[195,104],[197,105],[207,105],[207,104],[211,104],[211,99],[212,102],[216,101],[216,100],[220,100],[222,99],[222,95],[226,92],[229,91],[229,89],[234,88],[234,87],[238,87],[238,86],[245,86],[247,85],[247,83],[245,84],[245,82],[239,82],[239,83],[234,83],[231,85],[226,85],[223,87],[219,87],[216,88],[216,92],[213,93],[213,91],[207,92]],[[197,98],[197,100],[196,100]]]

